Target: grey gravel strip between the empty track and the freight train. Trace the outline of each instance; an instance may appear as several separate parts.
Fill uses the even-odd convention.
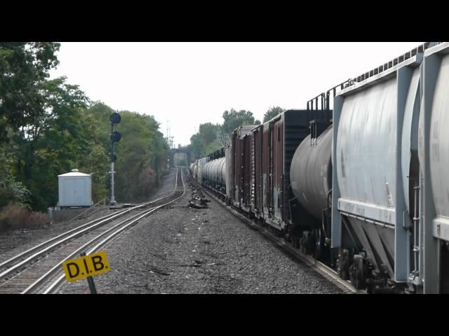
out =
[[[187,180],[187,179],[185,179]],[[349,293],[249,228],[220,204],[190,209],[192,189],[110,241],[98,293]],[[87,281],[60,293],[89,293]]]

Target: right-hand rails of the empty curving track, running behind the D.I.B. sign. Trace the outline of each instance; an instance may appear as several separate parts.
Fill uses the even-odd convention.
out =
[[[115,237],[117,237],[118,235],[121,234],[121,232],[123,232],[124,230],[129,229],[130,227],[132,227],[133,225],[135,225],[136,223],[138,223],[138,221],[140,221],[142,218],[145,218],[147,216],[149,216],[149,214],[152,214],[154,211],[156,211],[157,209],[160,209],[161,207],[165,207],[166,205],[175,202],[176,200],[179,200],[181,197],[183,197],[185,195],[185,183],[184,183],[184,178],[182,176],[182,169],[181,169],[181,181],[182,181],[182,186],[183,186],[183,191],[182,191],[182,195],[180,195],[179,197],[176,197],[174,200],[171,200],[169,202],[166,202],[164,204],[161,204],[159,206],[156,206],[152,209],[148,209],[143,211],[143,213],[140,214],[136,214],[135,216],[133,216],[132,218],[127,218],[126,221],[123,221],[117,225],[114,225],[114,227],[110,228],[109,230],[102,232],[100,235],[98,235],[97,237],[94,237],[93,239],[91,239],[90,241],[88,241],[86,244],[83,244],[83,246],[79,247],[76,249],[76,251],[72,252],[70,255],[68,255],[66,258],[64,258],[63,260],[61,260],[60,262],[58,262],[52,269],[50,269],[48,272],[46,272],[46,274],[43,274],[43,276],[41,276],[39,279],[37,279],[34,283],[32,283],[32,285],[30,285],[28,288],[26,288],[22,294],[27,294],[27,293],[32,293],[32,291],[41,288],[50,278],[54,278],[55,276],[58,276],[57,274],[59,274],[61,272],[61,264],[62,262],[64,262],[65,260],[69,260],[70,258],[74,258],[77,255],[79,255],[79,253],[81,253],[82,251],[85,251],[86,248],[88,248],[88,246],[92,246],[93,244],[97,243],[95,246],[93,246],[92,248],[90,248],[86,254],[89,255],[95,251],[98,251],[99,248],[101,248],[102,246],[104,246],[107,242],[111,241],[112,239],[114,239]],[[175,186],[177,188],[177,179],[176,179],[176,183]],[[177,193],[177,190],[175,190],[175,193]],[[174,194],[170,195],[173,196]],[[136,218],[137,217],[137,218]],[[134,219],[135,218],[135,219]],[[133,219],[132,221],[128,222],[130,219]],[[126,223],[126,224],[124,224]],[[107,237],[105,237],[107,236]],[[105,237],[105,239],[102,239],[103,237]],[[102,240],[101,240],[102,239]],[[58,290],[58,288],[60,287],[60,285],[62,285],[62,283],[65,280],[65,274],[62,274],[60,276],[58,276],[57,279],[55,279],[50,286],[48,286],[44,291],[43,294],[50,294],[50,293],[55,293],[56,290]]]

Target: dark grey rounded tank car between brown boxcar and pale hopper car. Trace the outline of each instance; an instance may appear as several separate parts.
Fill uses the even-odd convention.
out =
[[[311,132],[293,155],[290,182],[299,208],[293,246],[326,261],[330,245],[330,193],[332,190],[332,125],[312,120]],[[293,204],[295,206],[295,204]],[[307,214],[306,214],[307,212]]]

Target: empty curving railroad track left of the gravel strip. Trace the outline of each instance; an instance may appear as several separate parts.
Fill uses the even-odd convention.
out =
[[[0,293],[56,293],[65,281],[62,262],[81,252],[99,251],[121,232],[184,194],[182,169],[177,169],[175,188],[165,197],[95,219],[15,255],[0,264]],[[135,211],[138,214],[131,214]]]

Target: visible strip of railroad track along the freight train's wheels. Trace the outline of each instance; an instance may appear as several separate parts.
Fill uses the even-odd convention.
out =
[[[192,179],[192,181],[194,180]],[[196,186],[201,188],[205,193],[207,193],[210,197],[212,197],[215,201],[217,201],[222,207],[225,207],[225,209],[227,209],[229,212],[234,214],[234,216],[243,221],[243,223],[246,223],[246,225],[250,226],[250,228],[253,228],[258,232],[260,232],[262,235],[264,235],[264,237],[267,237],[269,240],[274,242],[274,244],[282,248],[283,251],[286,251],[297,260],[304,262],[304,264],[309,266],[311,269],[314,269],[314,271],[325,276],[326,279],[330,279],[334,283],[337,283],[338,285],[350,290],[353,293],[366,294],[365,290],[359,290],[355,288],[350,281],[341,279],[340,276],[338,276],[338,273],[335,272],[335,270],[330,268],[328,265],[324,264],[323,262],[320,262],[319,260],[311,258],[311,256],[309,255],[302,253],[297,248],[294,248],[290,242],[286,241],[286,239],[283,239],[282,237],[276,237],[275,235],[272,234],[272,232],[269,232],[269,230],[267,230],[266,228],[257,225],[256,223],[251,221],[250,218],[243,216],[243,214],[239,213],[235,209],[232,209],[232,207],[227,206],[225,203],[222,202],[222,200],[220,200],[215,195],[210,193],[210,191],[207,188],[199,186],[199,183],[197,183],[196,181],[194,181],[194,183],[196,183]]]

